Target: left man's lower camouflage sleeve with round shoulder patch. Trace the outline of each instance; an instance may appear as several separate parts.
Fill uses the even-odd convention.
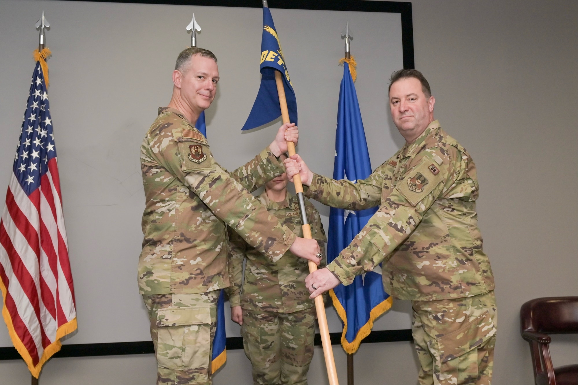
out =
[[[181,128],[172,133],[169,140],[151,143],[160,164],[249,245],[273,261],[279,260],[294,242],[295,234],[214,162],[208,143],[188,138]]]

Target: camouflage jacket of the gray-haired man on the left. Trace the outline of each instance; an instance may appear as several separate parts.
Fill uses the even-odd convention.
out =
[[[284,172],[268,148],[228,173],[183,114],[160,108],[140,150],[146,195],[140,294],[228,287],[227,225],[273,261],[295,240],[249,193]]]

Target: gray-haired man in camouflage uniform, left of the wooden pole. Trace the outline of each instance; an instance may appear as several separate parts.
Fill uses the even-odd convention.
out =
[[[284,172],[279,156],[297,127],[281,126],[253,160],[227,172],[195,127],[213,101],[217,59],[191,47],[177,58],[173,95],[140,154],[146,208],[140,294],[149,310],[158,384],[210,384],[216,303],[228,287],[227,226],[271,261],[287,252],[318,263],[315,240],[297,238],[249,193]]]

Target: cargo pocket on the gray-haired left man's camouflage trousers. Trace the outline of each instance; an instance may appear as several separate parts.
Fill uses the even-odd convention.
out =
[[[209,372],[210,308],[159,309],[158,366],[172,370]]]

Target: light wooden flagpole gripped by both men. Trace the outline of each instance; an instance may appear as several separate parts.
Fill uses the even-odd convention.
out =
[[[277,93],[279,94],[279,105],[281,107],[281,118],[283,124],[290,123],[289,112],[287,109],[287,99],[285,97],[285,88],[283,86],[283,79],[281,72],[275,71],[275,82],[277,83]],[[289,156],[295,155],[295,144],[287,142],[287,149]],[[293,176],[293,183],[295,184],[295,193],[297,193],[299,201],[299,211],[301,211],[301,218],[303,220],[303,238],[313,239],[311,236],[311,227],[306,223],[307,216],[305,214],[305,202],[303,201],[303,185],[301,183],[301,176],[299,174]],[[309,272],[312,273],[317,270],[317,265],[312,261],[308,261]],[[319,332],[321,334],[321,345],[323,345],[323,355],[325,356],[325,367],[327,367],[327,376],[329,377],[329,385],[339,385],[337,379],[337,370],[335,369],[335,360],[333,358],[333,349],[331,347],[331,339],[329,339],[329,328],[327,326],[327,316],[325,316],[325,305],[323,303],[323,296],[317,295],[315,297],[315,309],[317,310],[317,322],[319,324]]]

